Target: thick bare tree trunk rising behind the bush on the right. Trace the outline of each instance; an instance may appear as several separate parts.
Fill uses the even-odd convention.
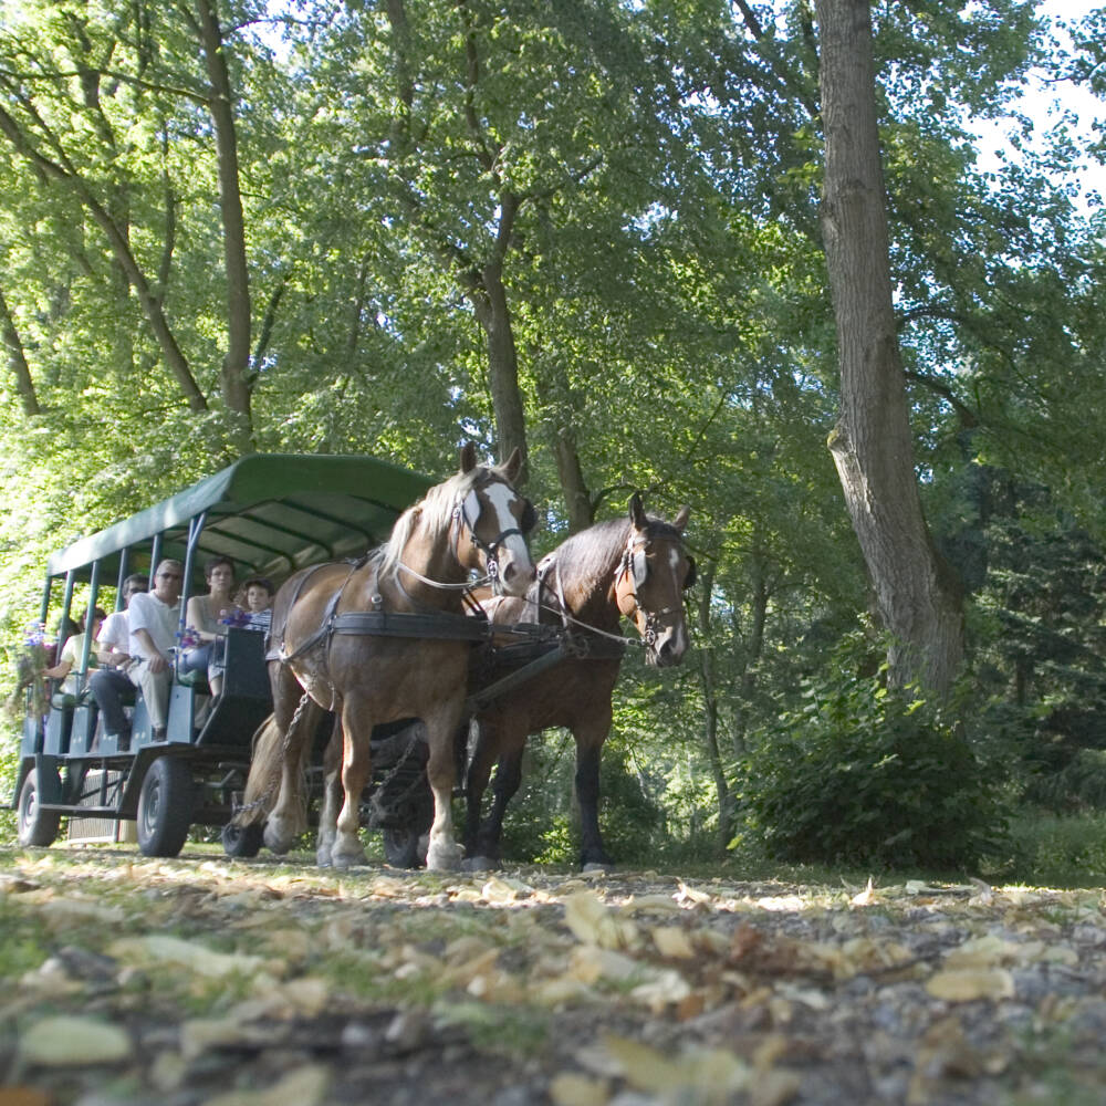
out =
[[[963,598],[921,510],[895,331],[868,0],[817,0],[825,129],[822,231],[837,323],[841,416],[830,436],[853,529],[895,644],[896,685],[948,691]]]

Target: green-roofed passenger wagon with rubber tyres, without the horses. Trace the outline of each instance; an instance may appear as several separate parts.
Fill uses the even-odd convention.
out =
[[[184,611],[210,556],[230,557],[242,574],[278,581],[304,565],[357,556],[387,538],[396,518],[431,483],[371,457],[246,457],[51,556],[41,622],[60,617],[69,625],[86,609],[91,626],[97,604],[111,605],[104,595],[121,595],[128,574],[153,571],[166,557],[185,565]],[[87,654],[86,647],[74,666],[77,693],[54,687],[44,713],[29,710],[25,718],[11,804],[20,843],[52,844],[67,817],[71,837],[91,836],[82,827],[118,833],[119,825],[133,825],[145,855],[175,856],[191,826],[226,826],[249,768],[251,738],[272,712],[264,635],[228,627],[225,685],[207,712],[204,674],[175,674],[164,739],[155,737],[136,691],[125,747],[97,720],[84,679]],[[403,808],[372,787],[366,802],[371,823],[399,851],[394,858],[409,863],[428,812],[418,786],[417,742],[404,729],[383,730],[375,758],[378,778],[387,778]],[[228,851],[234,847],[231,835]]]

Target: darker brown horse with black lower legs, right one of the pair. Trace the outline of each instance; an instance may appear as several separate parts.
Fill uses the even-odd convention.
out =
[[[585,870],[609,867],[599,834],[599,752],[611,730],[611,696],[622,665],[619,615],[637,626],[648,664],[664,668],[684,658],[682,592],[695,583],[695,562],[682,540],[688,513],[684,508],[670,523],[647,518],[635,494],[628,520],[589,526],[546,556],[525,598],[491,602],[493,624],[533,620],[536,613],[542,623],[563,623],[589,655],[557,661],[473,717],[466,867],[498,864],[503,813],[519,790],[526,737],[552,726],[572,730],[576,741],[581,865]],[[480,804],[497,759],[494,803],[481,822]]]

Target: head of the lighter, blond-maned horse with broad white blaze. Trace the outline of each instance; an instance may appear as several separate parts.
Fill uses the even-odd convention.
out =
[[[472,442],[461,450],[459,476],[472,479],[455,515],[470,541],[457,542],[457,557],[465,567],[487,573],[493,589],[507,595],[525,595],[534,581],[526,534],[534,529],[538,514],[514,489],[521,468],[518,447],[498,466],[479,466]]]

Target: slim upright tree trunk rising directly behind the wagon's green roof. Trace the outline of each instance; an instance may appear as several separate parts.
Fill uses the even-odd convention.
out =
[[[211,85],[210,111],[219,161],[219,207],[222,211],[227,269],[227,354],[222,362],[220,389],[228,409],[241,420],[237,428],[238,446],[242,451],[249,451],[253,436],[250,410],[250,272],[246,260],[246,218],[239,184],[234,102],[227,70],[227,43],[219,17],[210,0],[196,0],[196,13]]]

